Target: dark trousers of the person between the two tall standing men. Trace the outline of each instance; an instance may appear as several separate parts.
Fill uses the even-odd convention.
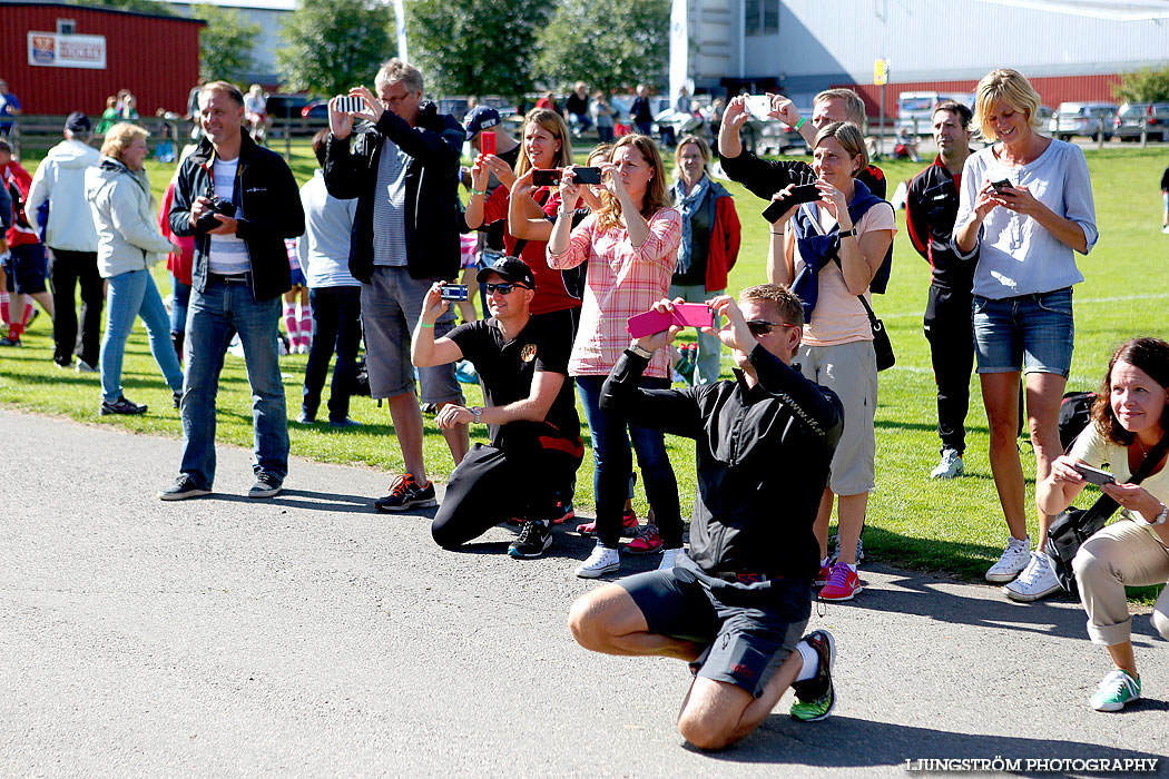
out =
[[[361,287],[328,286],[309,290],[312,306],[312,348],[304,369],[302,410],[317,418],[320,390],[325,387],[328,361],[337,353],[333,383],[328,390],[328,420],[344,422],[350,416],[350,392],[358,375],[358,348],[361,346]]]

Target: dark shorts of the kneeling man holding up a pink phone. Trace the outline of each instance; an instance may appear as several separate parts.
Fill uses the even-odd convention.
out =
[[[791,654],[811,617],[811,582],[746,585],[704,573],[693,562],[617,582],[645,615],[650,633],[705,644],[698,676],[759,697]]]

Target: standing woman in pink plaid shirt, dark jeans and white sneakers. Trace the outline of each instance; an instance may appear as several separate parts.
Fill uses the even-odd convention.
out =
[[[627,346],[625,321],[649,311],[666,297],[682,243],[682,215],[670,208],[665,167],[655,142],[645,135],[624,135],[613,148],[602,171],[602,206],[572,228],[572,215],[581,197],[572,167],[560,183],[561,204],[548,239],[548,265],[575,267],[588,262],[580,328],[568,373],[576,380],[589,436],[593,439],[593,487],[596,495],[597,544],[576,576],[596,578],[621,568],[617,544],[629,474],[634,467],[629,441],[637,450],[645,494],[658,528],[646,526],[625,550],[656,552],[664,549],[662,568],[673,568],[682,552],[682,513],[678,482],[660,432],[628,425],[600,409],[601,384]],[[665,352],[655,355],[642,385],[670,388]]]

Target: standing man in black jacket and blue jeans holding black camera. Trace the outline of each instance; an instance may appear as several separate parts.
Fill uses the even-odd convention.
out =
[[[292,172],[241,131],[243,95],[226,82],[199,93],[203,139],[184,161],[168,220],[195,237],[182,387],[182,462],[158,495],[206,495],[215,480],[215,395],[223,355],[238,333],[251,385],[256,482],[249,498],[279,493],[288,475],[289,431],[281,381],[281,295],[291,286],[285,238],[304,232]]]

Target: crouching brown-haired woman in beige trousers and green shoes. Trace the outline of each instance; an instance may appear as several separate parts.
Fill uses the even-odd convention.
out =
[[[1092,696],[1098,711],[1119,711],[1141,696],[1133,654],[1132,619],[1125,586],[1164,584],[1169,579],[1169,473],[1165,457],[1140,485],[1129,484],[1144,457],[1169,430],[1169,343],[1136,338],[1108,362],[1092,406],[1092,422],[1068,454],[1057,457],[1051,473],[1036,486],[1039,509],[1057,514],[1086,484],[1077,464],[1111,468],[1115,481],[1101,491],[1121,507],[1122,519],[1084,542],[1072,568],[1088,613],[1088,635],[1108,649],[1114,666]],[[1169,639],[1169,589],[1153,607],[1153,626]]]

